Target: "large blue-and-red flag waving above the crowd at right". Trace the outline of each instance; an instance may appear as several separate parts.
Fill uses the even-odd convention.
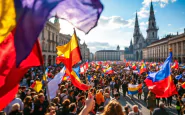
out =
[[[148,74],[145,83],[157,97],[170,97],[177,94],[176,86],[170,75],[170,63],[172,60],[172,52],[165,60],[162,68],[158,72]]]

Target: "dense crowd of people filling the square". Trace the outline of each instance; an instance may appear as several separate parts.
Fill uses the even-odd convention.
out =
[[[122,105],[119,102],[122,96],[134,101],[133,95],[128,95],[128,84],[142,84],[137,98],[146,103],[151,115],[168,115],[165,107],[171,107],[175,100],[175,109],[178,115],[185,114],[185,90],[181,84],[185,82],[183,76],[176,80],[175,76],[182,74],[184,69],[172,70],[172,78],[177,86],[178,95],[168,98],[157,98],[154,93],[149,91],[144,80],[147,72],[137,74],[132,69],[124,70],[125,63],[109,64],[114,73],[105,74],[101,69],[95,70],[89,66],[85,74],[80,74],[80,80],[91,88],[87,91],[81,91],[74,87],[70,79],[58,84],[59,88],[56,97],[48,99],[46,93],[47,82],[42,81],[44,74],[42,67],[30,69],[22,79],[19,92],[15,99],[1,112],[0,115],[145,115],[139,110],[138,105]],[[50,66],[47,73],[48,79],[54,76],[63,66]],[[150,71],[156,71],[154,68],[147,68]],[[91,76],[91,79],[88,79]],[[34,81],[42,81],[42,90],[36,92],[30,86]]]

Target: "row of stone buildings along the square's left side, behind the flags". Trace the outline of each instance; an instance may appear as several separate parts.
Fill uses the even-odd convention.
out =
[[[39,42],[42,49],[42,55],[44,59],[44,65],[53,65],[56,63],[58,45],[65,45],[71,39],[71,35],[65,35],[60,33],[60,23],[57,18],[55,18],[54,23],[48,21],[42,32],[39,35]],[[90,51],[87,45],[80,44],[80,38],[78,37],[78,43],[80,46],[80,51],[82,55],[82,60],[89,60]]]

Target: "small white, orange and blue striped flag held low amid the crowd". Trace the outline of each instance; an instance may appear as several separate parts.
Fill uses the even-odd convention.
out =
[[[142,88],[142,84],[128,84],[128,94],[135,95],[138,93],[138,90]]]

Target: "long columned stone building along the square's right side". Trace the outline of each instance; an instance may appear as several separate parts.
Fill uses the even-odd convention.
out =
[[[167,35],[143,49],[145,61],[165,61],[169,55],[169,48],[172,48],[173,60],[185,63],[185,30],[182,34]]]

